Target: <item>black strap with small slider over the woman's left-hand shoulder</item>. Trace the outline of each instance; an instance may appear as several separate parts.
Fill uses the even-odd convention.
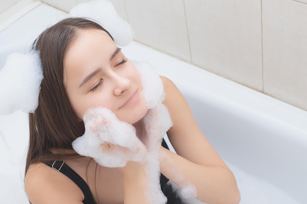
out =
[[[48,161],[45,162],[45,164],[55,169],[56,171],[61,172],[77,184],[77,186],[82,190],[84,194],[83,204],[96,204],[93,194],[87,183],[64,161]]]

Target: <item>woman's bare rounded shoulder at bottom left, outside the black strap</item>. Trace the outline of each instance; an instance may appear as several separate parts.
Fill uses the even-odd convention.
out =
[[[81,204],[84,199],[77,184],[44,163],[29,166],[25,189],[32,204]]]

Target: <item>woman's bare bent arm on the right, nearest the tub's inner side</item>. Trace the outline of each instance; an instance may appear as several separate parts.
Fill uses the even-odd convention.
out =
[[[232,172],[201,132],[174,83],[161,78],[166,92],[163,104],[167,106],[174,123],[167,134],[178,154],[161,147],[161,173],[180,187],[192,184],[201,201],[238,204],[240,193]],[[174,173],[176,170],[177,174]]]

